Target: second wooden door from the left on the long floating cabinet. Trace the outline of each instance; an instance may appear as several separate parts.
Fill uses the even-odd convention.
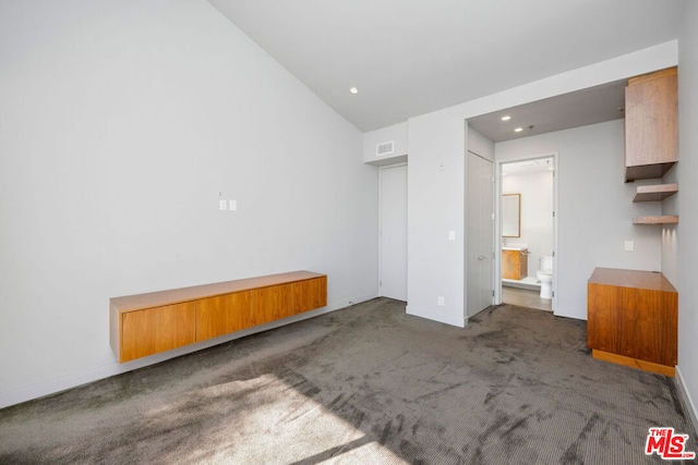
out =
[[[196,307],[196,341],[240,331],[250,323],[250,291],[203,298]]]

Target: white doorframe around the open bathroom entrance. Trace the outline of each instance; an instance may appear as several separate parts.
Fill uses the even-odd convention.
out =
[[[553,298],[552,298],[552,311],[553,315],[556,315],[557,311],[557,298],[559,297],[557,294],[557,272],[559,270],[558,260],[558,247],[557,247],[557,219],[559,218],[559,203],[558,203],[558,179],[559,179],[559,156],[557,151],[543,152],[539,155],[526,156],[526,157],[517,157],[507,160],[500,160],[496,158],[496,149],[495,149],[495,160],[496,160],[496,175],[495,175],[495,199],[494,199],[494,230],[495,230],[495,258],[494,258],[494,298],[495,305],[502,304],[502,166],[507,163],[514,163],[517,161],[527,161],[527,160],[539,160],[541,158],[553,158]]]

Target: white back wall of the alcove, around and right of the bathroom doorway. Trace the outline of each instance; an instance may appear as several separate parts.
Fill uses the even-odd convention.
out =
[[[497,161],[557,152],[556,315],[587,319],[587,280],[595,267],[660,270],[661,229],[633,224],[634,217],[659,215],[660,206],[634,204],[638,183],[623,182],[624,120],[500,143],[495,150]],[[635,252],[625,252],[625,241]]]

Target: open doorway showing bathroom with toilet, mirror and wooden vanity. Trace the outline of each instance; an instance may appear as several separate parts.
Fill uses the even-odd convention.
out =
[[[556,154],[498,162],[500,296],[555,310]]]

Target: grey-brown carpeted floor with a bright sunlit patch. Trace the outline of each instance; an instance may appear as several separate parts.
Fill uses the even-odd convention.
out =
[[[585,321],[377,298],[1,409],[0,463],[657,464],[648,428],[698,451],[687,418],[673,380],[592,359]]]

